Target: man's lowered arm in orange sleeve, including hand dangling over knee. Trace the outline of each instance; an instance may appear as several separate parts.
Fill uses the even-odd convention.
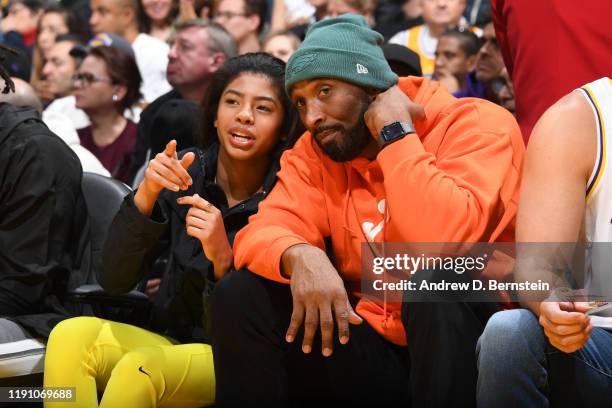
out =
[[[310,353],[317,329],[321,352],[333,352],[334,321],[341,344],[349,341],[349,323],[359,324],[344,282],[325,253],[329,222],[322,193],[321,161],[310,139],[302,137],[281,160],[276,186],[234,243],[235,264],[268,279],[290,283],[293,298],[286,340],[304,325],[302,350]],[[282,272],[281,272],[282,267]]]

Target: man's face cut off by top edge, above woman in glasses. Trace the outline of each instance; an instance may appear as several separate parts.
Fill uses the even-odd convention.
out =
[[[131,24],[133,11],[123,0],[91,0],[89,24],[94,34],[115,33],[123,35]]]

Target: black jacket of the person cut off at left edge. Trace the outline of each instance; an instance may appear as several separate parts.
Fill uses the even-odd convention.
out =
[[[0,103],[0,317],[36,336],[78,313],[65,294],[88,274],[81,178],[77,156],[34,109]]]

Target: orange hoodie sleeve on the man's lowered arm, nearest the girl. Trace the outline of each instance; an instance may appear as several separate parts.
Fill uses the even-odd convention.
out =
[[[234,242],[236,268],[281,283],[281,256],[289,247],[310,244],[325,250],[329,236],[321,161],[304,136],[281,158],[278,181]]]

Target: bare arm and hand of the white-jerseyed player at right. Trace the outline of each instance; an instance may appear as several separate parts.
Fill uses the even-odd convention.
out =
[[[547,268],[553,262],[550,256],[559,252],[549,254],[551,248],[546,244],[529,243],[550,243],[552,247],[579,241],[586,186],[597,154],[596,136],[593,112],[578,92],[553,105],[534,128],[517,217],[517,241],[525,243],[519,244],[517,280],[554,274]],[[525,305],[540,317],[547,337],[558,349],[573,352],[588,340],[590,320],[581,305],[555,301],[526,301]]]

